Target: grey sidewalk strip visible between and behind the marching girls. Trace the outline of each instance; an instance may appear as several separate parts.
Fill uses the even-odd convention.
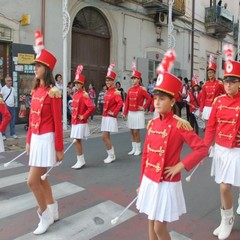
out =
[[[152,118],[152,114],[145,114],[146,123]],[[101,115],[94,115],[93,120],[89,120],[89,129],[91,137],[96,137],[101,134]],[[26,144],[26,135],[27,131],[24,129],[25,124],[16,124],[16,135],[18,136],[17,139],[13,139],[9,137],[9,129],[6,130],[6,137],[7,140],[4,141],[5,151],[20,151],[25,149]],[[126,122],[123,121],[123,119],[118,117],[118,127],[119,132],[126,132],[129,131],[129,129],[126,126]],[[70,132],[71,127],[68,126],[67,130],[64,130],[64,142],[71,142],[70,139]]]

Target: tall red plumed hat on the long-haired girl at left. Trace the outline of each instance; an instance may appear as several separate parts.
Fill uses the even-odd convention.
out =
[[[34,51],[37,54],[36,58],[34,59],[34,62],[42,63],[49,67],[51,71],[53,71],[57,59],[51,52],[44,49],[43,35],[41,34],[40,30],[37,30],[35,33]]]

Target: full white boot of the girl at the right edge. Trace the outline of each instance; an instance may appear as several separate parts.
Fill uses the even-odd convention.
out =
[[[227,210],[221,209],[221,216],[221,224],[214,230],[213,235],[218,236],[219,240],[224,240],[231,234],[234,224],[233,208]]]

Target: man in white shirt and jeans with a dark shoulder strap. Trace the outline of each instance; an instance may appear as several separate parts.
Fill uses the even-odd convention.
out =
[[[12,78],[10,76],[5,77],[5,86],[2,87],[1,94],[3,97],[3,101],[6,103],[8,111],[11,114],[10,121],[10,136],[12,138],[18,138],[15,133],[15,90],[12,87]],[[6,140],[6,133],[3,132],[3,140]]]

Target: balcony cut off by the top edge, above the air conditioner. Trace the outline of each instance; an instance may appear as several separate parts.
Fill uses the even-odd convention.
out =
[[[143,7],[147,8],[150,14],[163,12],[168,13],[169,0],[143,0]],[[175,0],[173,4],[173,17],[185,15],[185,0]]]

